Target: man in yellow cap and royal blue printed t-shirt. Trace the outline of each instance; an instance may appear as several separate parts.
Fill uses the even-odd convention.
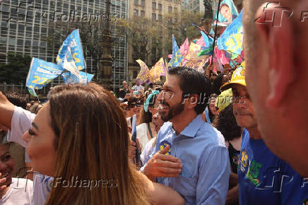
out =
[[[229,88],[232,88],[233,114],[238,126],[244,128],[237,167],[239,204],[302,204],[308,199],[308,185],[301,186],[303,178],[275,156],[261,139],[254,105],[246,88],[245,62],[220,90]]]

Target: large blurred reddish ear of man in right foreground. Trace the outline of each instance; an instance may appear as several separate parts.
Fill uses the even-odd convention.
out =
[[[277,8],[276,13],[281,12],[279,9],[281,8]],[[279,107],[288,93],[290,84],[295,81],[292,20],[283,16],[280,19],[281,26],[274,26],[271,23],[256,26],[258,34],[263,35],[261,38],[267,41],[270,54],[267,72],[269,94],[265,99],[268,107]]]

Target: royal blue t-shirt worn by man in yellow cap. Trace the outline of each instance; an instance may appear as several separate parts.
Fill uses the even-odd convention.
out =
[[[302,205],[308,199],[308,179],[275,156],[262,139],[249,139],[247,129],[242,136],[239,204]]]

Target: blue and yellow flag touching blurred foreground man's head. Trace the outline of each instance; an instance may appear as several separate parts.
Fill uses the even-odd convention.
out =
[[[223,49],[232,54],[240,55],[243,50],[243,26],[242,26],[243,11],[225,30],[225,32],[218,37],[218,49]],[[231,57],[232,58],[232,57]]]

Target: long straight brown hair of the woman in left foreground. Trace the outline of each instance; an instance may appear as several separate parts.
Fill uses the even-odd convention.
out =
[[[128,129],[117,99],[90,83],[56,86],[49,103],[57,154],[46,204],[149,204],[129,164]],[[89,180],[94,181],[91,188]]]

